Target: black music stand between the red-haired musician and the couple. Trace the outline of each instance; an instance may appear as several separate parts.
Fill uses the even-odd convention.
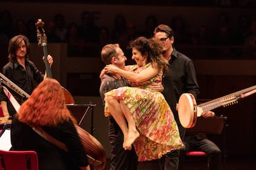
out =
[[[87,115],[88,110],[91,108],[92,118],[91,118],[91,134],[93,135],[94,127],[93,127],[93,108],[96,106],[96,104],[85,104],[85,105],[74,105],[69,104],[67,105],[67,108],[71,112],[71,114],[74,116],[74,118],[77,120],[78,125],[83,121],[83,118],[85,118],[85,115]]]

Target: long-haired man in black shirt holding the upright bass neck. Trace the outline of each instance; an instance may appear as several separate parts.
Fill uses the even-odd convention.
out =
[[[2,68],[2,74],[19,86],[27,94],[31,94],[35,89],[35,82],[40,83],[46,76],[41,73],[35,64],[29,59],[30,42],[23,35],[17,35],[10,39],[8,47],[9,62]],[[44,57],[43,57],[44,59]],[[47,57],[49,65],[53,64],[53,57]],[[17,99],[21,104],[23,101]],[[0,92],[0,101],[4,116],[13,116],[15,109],[7,99],[4,92]]]

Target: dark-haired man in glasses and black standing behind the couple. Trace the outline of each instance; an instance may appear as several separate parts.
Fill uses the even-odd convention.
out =
[[[173,111],[179,134],[184,139],[186,129],[182,127],[176,110],[176,104],[182,93],[192,93],[195,98],[199,94],[197,77],[192,60],[176,51],[173,47],[174,33],[168,25],[158,25],[154,31],[155,38],[163,42],[163,56],[169,62],[168,74],[163,77],[163,95]],[[177,170],[179,168],[180,150],[173,150],[160,160],[161,169]]]

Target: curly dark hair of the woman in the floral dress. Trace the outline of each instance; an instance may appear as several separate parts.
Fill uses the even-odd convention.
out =
[[[163,70],[163,74],[167,73],[169,64],[163,57],[163,45],[159,39],[141,36],[130,42],[130,47],[140,51],[143,56],[147,55],[147,63],[152,63],[152,67]]]

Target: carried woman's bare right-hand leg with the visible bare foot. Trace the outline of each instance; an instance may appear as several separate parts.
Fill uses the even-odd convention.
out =
[[[130,113],[129,108],[127,108],[126,104],[124,103],[124,100],[120,100],[119,102],[122,113],[124,113],[124,116],[126,116],[126,120],[128,123],[128,134],[126,140],[124,140],[123,147],[125,150],[131,150],[132,144],[138,137],[140,137],[140,134],[136,129],[134,117],[132,116],[132,113]]]

